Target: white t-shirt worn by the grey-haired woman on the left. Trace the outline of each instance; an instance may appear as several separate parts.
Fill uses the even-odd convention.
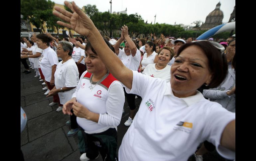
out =
[[[60,61],[56,67],[54,79],[56,89],[63,87],[76,87],[79,81],[79,73],[75,61],[73,59],[69,59],[64,63]],[[69,101],[74,92],[75,88],[69,91],[59,92],[58,95],[60,97],[61,104],[64,105]]]

